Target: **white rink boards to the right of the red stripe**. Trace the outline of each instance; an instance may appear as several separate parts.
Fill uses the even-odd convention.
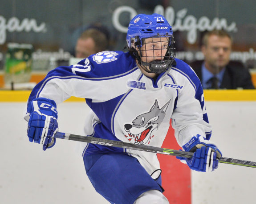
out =
[[[207,102],[212,141],[223,157],[256,161],[256,102]],[[192,204],[255,204],[256,169],[219,164],[192,172]]]

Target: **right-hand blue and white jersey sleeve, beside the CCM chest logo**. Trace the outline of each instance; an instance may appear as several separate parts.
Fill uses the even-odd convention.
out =
[[[183,89],[179,91],[172,114],[172,126],[180,146],[186,144],[197,134],[211,137],[211,126],[203,97],[203,88],[195,72],[186,63],[176,60],[177,66],[172,68],[173,78],[179,78]]]

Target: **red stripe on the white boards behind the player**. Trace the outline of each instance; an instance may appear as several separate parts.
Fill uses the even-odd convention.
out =
[[[162,145],[163,148],[179,150],[174,129],[170,126]],[[191,204],[191,172],[186,164],[183,164],[175,156],[158,154],[162,169],[163,194],[171,204]]]

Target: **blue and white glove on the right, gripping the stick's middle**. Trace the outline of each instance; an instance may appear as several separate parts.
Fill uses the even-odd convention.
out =
[[[177,157],[181,161],[186,161],[190,169],[207,172],[218,168],[222,153],[213,142],[206,140],[203,136],[198,134],[192,137],[187,144],[183,145],[183,149],[186,152],[194,152],[191,158]]]

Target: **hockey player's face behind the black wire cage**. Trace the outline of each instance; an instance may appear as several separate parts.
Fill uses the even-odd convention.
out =
[[[168,48],[168,39],[166,37],[146,38],[141,47],[141,59],[143,62],[154,60],[163,60]]]

